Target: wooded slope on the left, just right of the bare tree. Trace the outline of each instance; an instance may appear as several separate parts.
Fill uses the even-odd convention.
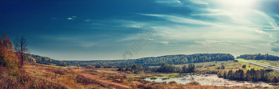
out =
[[[43,56],[33,55],[33,54],[30,54],[29,56],[27,56],[27,61],[30,61],[33,63],[45,64],[45,65],[51,65],[51,64],[56,64],[57,66],[70,65],[69,63],[65,63],[63,61],[54,60],[49,57],[43,57]]]

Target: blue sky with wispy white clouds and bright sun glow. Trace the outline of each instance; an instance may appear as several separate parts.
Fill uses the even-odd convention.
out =
[[[279,55],[277,0],[10,0],[0,33],[23,34],[32,54],[56,60],[116,60],[230,53]],[[157,32],[136,54],[131,46]]]

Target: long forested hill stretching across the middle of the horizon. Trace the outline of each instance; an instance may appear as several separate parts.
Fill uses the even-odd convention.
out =
[[[94,60],[94,61],[63,61],[74,66],[102,65],[102,66],[132,66],[133,64],[141,64],[141,66],[160,66],[161,63],[185,64],[200,63],[209,61],[228,61],[234,60],[234,56],[226,53],[199,53],[191,55],[165,55],[159,57],[146,57],[131,60]]]

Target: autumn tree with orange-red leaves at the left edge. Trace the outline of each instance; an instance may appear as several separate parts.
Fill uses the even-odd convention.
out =
[[[18,76],[18,57],[13,52],[10,38],[4,34],[0,38],[0,89],[12,89],[17,85],[14,76]]]

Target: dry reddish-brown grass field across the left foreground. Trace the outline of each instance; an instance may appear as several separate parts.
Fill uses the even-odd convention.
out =
[[[141,77],[150,74],[128,74],[113,68],[68,68],[44,66],[25,62],[21,77],[16,78],[19,89],[258,89],[243,87],[202,86],[195,82],[182,85],[176,82],[149,82]]]

